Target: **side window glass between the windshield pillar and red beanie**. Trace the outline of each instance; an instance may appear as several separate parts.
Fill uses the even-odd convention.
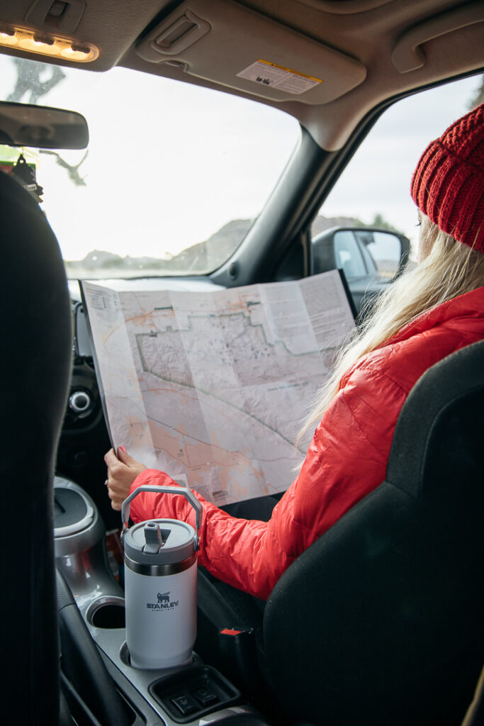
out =
[[[427,144],[459,116],[483,102],[483,78],[472,76],[446,83],[387,109],[321,206],[312,236],[341,225],[390,229],[409,237],[411,259],[415,260],[419,230],[410,196],[411,176]],[[382,249],[383,243],[383,237],[379,241],[375,236],[375,246],[369,245],[369,252],[373,250],[375,257],[386,253],[392,256],[392,250]],[[385,277],[385,269],[378,273]]]

